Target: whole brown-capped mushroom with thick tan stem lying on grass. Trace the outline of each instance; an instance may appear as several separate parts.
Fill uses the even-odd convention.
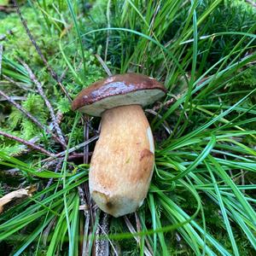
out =
[[[143,205],[154,167],[154,138],[142,107],[165,94],[155,79],[125,73],[91,84],[73,101],[73,110],[102,117],[89,189],[96,205],[113,217]]]

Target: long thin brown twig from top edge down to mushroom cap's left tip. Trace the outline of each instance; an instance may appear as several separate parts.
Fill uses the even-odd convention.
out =
[[[44,62],[44,65],[47,67],[47,69],[48,69],[48,71],[49,71],[51,77],[52,77],[53,79],[55,79],[55,81],[57,82],[57,84],[60,85],[61,90],[62,90],[62,91],[64,92],[64,94],[67,96],[67,99],[71,102],[72,99],[71,99],[71,97],[69,96],[69,94],[68,94],[66,88],[64,87],[63,84],[61,84],[61,80],[59,79],[59,77],[58,77],[58,75],[55,73],[55,71],[52,69],[52,67],[49,66],[48,61],[46,61],[46,59],[45,59],[45,57],[44,57],[44,55],[43,55],[41,49],[38,47],[37,42],[36,42],[35,39],[33,38],[32,33],[30,32],[30,30],[29,30],[29,28],[28,28],[28,26],[27,26],[27,24],[26,24],[26,20],[25,20],[25,19],[23,18],[23,16],[21,15],[20,7],[19,7],[19,5],[18,5],[18,3],[17,3],[16,0],[14,0],[14,5],[15,5],[15,9],[16,9],[17,14],[20,16],[21,23],[22,23],[22,25],[24,26],[24,28],[25,28],[25,30],[26,30],[26,34],[28,35],[28,37],[29,37],[30,41],[32,42],[33,46],[35,47],[35,49],[37,50],[38,55],[40,55],[42,61]]]

